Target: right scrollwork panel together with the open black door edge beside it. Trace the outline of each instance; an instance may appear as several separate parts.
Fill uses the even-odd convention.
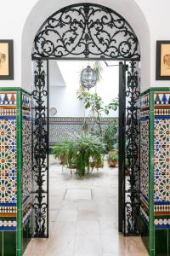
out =
[[[119,67],[119,231],[138,236],[139,165],[139,62]]]

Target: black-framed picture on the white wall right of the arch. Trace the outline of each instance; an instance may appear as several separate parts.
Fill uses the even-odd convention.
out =
[[[170,41],[156,41],[156,80],[170,80]]]

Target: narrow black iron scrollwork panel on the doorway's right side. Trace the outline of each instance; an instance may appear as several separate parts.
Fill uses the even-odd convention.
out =
[[[125,177],[125,234],[139,235],[139,73],[137,62],[131,61],[127,69],[127,115],[126,115],[126,157],[128,183]]]

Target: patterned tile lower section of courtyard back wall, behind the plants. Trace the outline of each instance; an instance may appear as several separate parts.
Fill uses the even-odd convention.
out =
[[[102,131],[105,126],[111,122],[110,118],[101,118],[100,124]],[[49,118],[49,145],[53,147],[54,143],[63,141],[65,137],[71,138],[71,133],[80,133],[82,131],[83,118]],[[94,124],[94,119],[87,119],[88,126]]]

